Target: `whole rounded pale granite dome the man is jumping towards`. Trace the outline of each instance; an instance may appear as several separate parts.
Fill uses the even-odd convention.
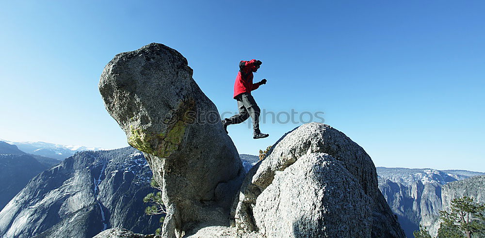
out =
[[[231,215],[238,228],[270,237],[404,237],[378,190],[372,159],[320,123],[275,143],[248,172]]]

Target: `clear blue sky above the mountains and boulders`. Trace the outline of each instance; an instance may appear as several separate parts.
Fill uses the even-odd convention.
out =
[[[177,49],[219,111],[240,60],[267,111],[323,111],[376,166],[485,172],[484,1],[2,1],[0,138],[116,148],[97,90],[115,54]],[[257,154],[296,124],[230,126]]]

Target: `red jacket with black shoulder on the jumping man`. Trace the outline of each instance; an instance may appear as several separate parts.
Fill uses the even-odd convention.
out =
[[[253,83],[253,72],[258,68],[255,65],[256,60],[241,61],[239,63],[239,72],[234,82],[234,98],[242,93],[251,93],[259,87],[258,83]]]

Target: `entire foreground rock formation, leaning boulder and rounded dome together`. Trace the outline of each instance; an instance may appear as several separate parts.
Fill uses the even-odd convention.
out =
[[[162,184],[162,237],[404,237],[372,159],[328,125],[285,134],[246,175],[217,108],[172,48],[116,55],[99,91]]]

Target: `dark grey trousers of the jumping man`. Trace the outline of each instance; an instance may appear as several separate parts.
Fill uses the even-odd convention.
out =
[[[239,124],[251,116],[254,133],[261,133],[261,131],[259,131],[259,114],[261,113],[261,110],[259,109],[258,104],[256,104],[253,96],[250,93],[242,93],[237,95],[235,99],[238,101],[239,114],[224,119],[224,124]]]

